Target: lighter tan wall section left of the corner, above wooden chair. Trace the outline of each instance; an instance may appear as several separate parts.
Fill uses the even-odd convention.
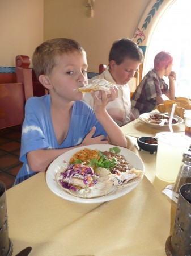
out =
[[[0,0],[0,67],[15,67],[43,42],[43,0]]]

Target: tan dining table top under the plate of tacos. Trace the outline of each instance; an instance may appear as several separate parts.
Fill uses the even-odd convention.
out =
[[[176,127],[183,132],[184,124]],[[136,119],[121,127],[129,150],[145,166],[142,181],[129,193],[102,203],[77,203],[53,193],[46,172],[6,191],[9,238],[16,255],[163,256],[172,233],[176,204],[162,193],[168,183],[156,177],[156,152],[139,150],[140,135],[158,130]]]

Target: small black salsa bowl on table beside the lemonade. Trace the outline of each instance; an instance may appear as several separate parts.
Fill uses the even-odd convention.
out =
[[[156,144],[150,144],[146,141],[154,141]],[[153,154],[157,151],[157,140],[155,137],[139,137],[137,138],[137,144],[139,146],[139,150],[145,150],[150,152],[150,154]]]

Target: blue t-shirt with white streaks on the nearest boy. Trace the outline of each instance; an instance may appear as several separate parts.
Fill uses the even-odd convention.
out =
[[[25,119],[22,127],[20,161],[23,166],[15,179],[15,185],[36,174],[27,163],[27,153],[39,149],[67,148],[77,146],[96,127],[93,137],[107,136],[92,108],[84,101],[75,101],[72,107],[70,126],[66,139],[58,144],[50,115],[50,96],[32,97],[26,102]],[[64,119],[61,120],[64,122]]]

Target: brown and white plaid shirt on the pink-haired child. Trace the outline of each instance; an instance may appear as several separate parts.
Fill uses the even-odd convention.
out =
[[[138,109],[140,114],[151,112],[156,106],[156,96],[162,96],[167,92],[168,85],[152,69],[145,75],[131,97],[131,108]]]

